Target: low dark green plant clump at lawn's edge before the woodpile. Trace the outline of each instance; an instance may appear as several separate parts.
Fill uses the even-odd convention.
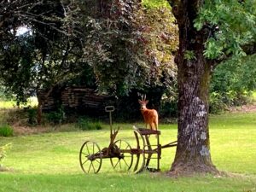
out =
[[[88,131],[88,130],[102,130],[102,123],[99,121],[94,121],[89,118],[80,118],[78,120],[77,126],[79,129],[83,131]]]

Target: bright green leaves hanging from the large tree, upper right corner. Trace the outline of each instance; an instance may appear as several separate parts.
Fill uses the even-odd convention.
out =
[[[246,55],[247,48],[256,43],[255,23],[255,0],[207,0],[195,20],[198,30],[207,26],[212,32],[204,55],[209,59]]]

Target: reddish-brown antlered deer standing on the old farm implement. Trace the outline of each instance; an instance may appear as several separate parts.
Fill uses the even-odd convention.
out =
[[[142,100],[138,100],[141,104],[141,112],[143,114],[144,121],[146,123],[146,128],[148,129],[148,125],[151,130],[158,129],[158,113],[154,109],[148,109],[146,105],[148,104],[148,100],[146,101],[146,96],[142,96]]]

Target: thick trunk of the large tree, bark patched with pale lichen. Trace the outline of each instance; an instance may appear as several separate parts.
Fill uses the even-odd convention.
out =
[[[211,64],[203,55],[209,32],[193,21],[201,1],[178,1],[172,12],[179,26],[177,151],[172,174],[217,172],[212,164],[208,128]]]

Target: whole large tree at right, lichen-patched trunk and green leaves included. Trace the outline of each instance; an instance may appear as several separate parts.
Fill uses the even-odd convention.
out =
[[[179,28],[177,151],[170,174],[218,172],[208,128],[211,74],[221,61],[255,53],[256,2],[168,2]]]

